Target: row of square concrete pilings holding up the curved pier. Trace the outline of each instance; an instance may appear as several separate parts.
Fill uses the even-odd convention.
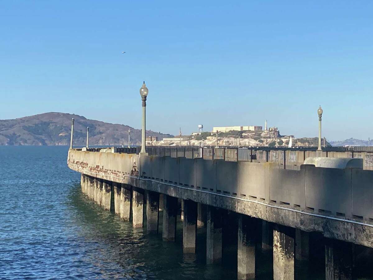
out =
[[[124,221],[132,221],[134,228],[146,227],[147,233],[158,233],[160,209],[163,210],[162,238],[167,242],[175,241],[176,224],[181,220],[184,253],[196,252],[197,227],[206,227],[206,263],[222,262],[223,228],[227,224],[225,219],[232,217],[226,215],[228,211],[84,174],[81,175],[81,189],[104,209],[114,212]],[[266,270],[271,271],[273,279],[296,279],[295,262],[308,262],[310,251],[320,242],[325,248],[322,254],[325,279],[352,279],[353,244],[234,214],[237,228],[225,230],[237,234],[238,279],[255,279],[260,265],[257,261],[259,250],[272,251],[267,255],[270,255],[273,266]]]

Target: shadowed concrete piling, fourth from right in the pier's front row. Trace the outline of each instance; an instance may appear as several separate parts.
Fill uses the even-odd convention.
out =
[[[213,206],[207,206],[207,264],[220,263],[222,261],[222,226],[222,213]]]

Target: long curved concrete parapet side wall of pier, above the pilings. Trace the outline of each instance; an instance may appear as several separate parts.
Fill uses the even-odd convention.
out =
[[[133,172],[139,162],[134,154],[70,150],[68,165],[92,177],[373,247],[372,171],[312,165],[292,171],[273,163],[158,156],[141,161],[140,178]]]

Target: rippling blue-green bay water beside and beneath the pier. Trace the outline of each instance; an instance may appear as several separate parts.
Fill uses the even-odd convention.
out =
[[[0,279],[236,279],[234,215],[226,217],[222,264],[206,265],[206,228],[195,255],[182,253],[181,222],[176,242],[162,241],[162,219],[156,235],[132,228],[82,195],[67,152],[0,146]],[[297,279],[325,277],[323,245],[314,240],[313,262],[297,264]],[[257,255],[257,279],[272,279],[268,254]]]

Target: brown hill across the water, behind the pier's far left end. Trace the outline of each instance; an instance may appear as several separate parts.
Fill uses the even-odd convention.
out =
[[[85,145],[87,127],[90,128],[90,145],[128,145],[141,143],[141,130],[128,125],[110,124],[68,113],[44,113],[18,119],[0,120],[0,145],[69,145],[71,119],[74,123],[74,145]],[[146,131],[147,136],[172,137],[170,134]]]

